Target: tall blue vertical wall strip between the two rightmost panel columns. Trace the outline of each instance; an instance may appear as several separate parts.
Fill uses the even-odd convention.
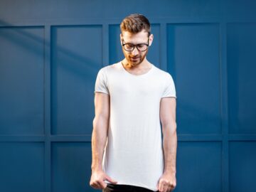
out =
[[[220,23],[220,105],[221,105],[221,125],[223,134],[223,169],[222,184],[223,192],[229,191],[229,155],[228,155],[228,68],[227,68],[227,42],[226,42],[226,23]]]

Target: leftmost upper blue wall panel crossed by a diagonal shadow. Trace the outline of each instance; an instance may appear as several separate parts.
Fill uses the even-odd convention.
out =
[[[43,134],[43,27],[2,27],[0,42],[0,134]]]

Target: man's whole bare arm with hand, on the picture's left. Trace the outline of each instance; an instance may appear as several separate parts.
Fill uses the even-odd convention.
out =
[[[107,142],[107,129],[110,119],[110,95],[95,92],[95,118],[92,131],[92,176],[90,186],[96,189],[106,188],[107,183],[117,183],[102,170],[102,158]]]

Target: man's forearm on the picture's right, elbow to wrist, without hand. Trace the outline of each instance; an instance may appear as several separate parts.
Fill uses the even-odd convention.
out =
[[[176,174],[177,134],[176,124],[163,127],[164,172]]]

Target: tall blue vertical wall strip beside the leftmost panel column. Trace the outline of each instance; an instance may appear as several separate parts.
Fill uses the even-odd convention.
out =
[[[45,191],[50,192],[50,25],[45,26],[44,39],[44,130],[45,130]]]

